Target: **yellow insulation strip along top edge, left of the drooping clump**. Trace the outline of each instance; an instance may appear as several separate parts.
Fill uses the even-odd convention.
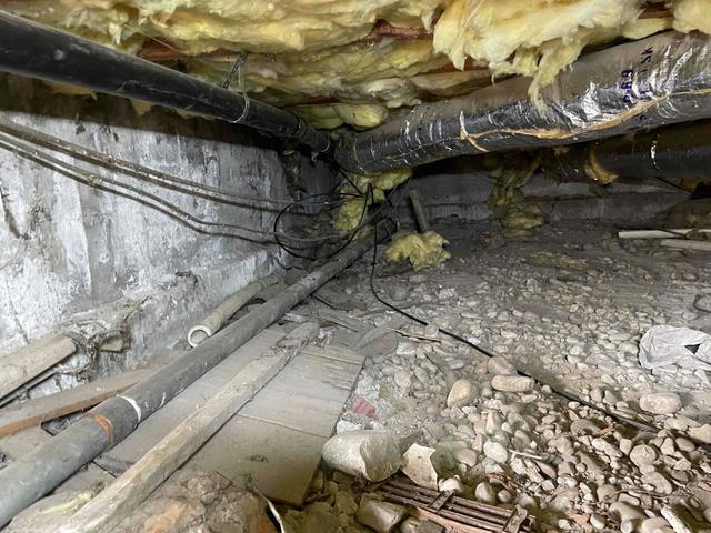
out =
[[[432,23],[440,0],[9,0],[3,9],[120,47],[136,34],[188,56],[316,50],[364,38],[377,20]]]

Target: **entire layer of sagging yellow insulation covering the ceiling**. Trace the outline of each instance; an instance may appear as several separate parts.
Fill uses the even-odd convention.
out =
[[[711,0],[10,0],[3,10],[214,82],[248,52],[232,89],[297,105],[322,128],[372,128],[492,76],[532,76],[544,105],[540,89],[585,48],[672,27],[711,32]]]

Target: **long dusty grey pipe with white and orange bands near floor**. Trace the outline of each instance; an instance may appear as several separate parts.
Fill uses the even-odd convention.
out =
[[[278,296],[141,383],[106,400],[47,444],[0,470],[0,527],[100,453],[126,439],[166,402],[357,261],[372,244],[372,239],[365,239],[347,248]]]

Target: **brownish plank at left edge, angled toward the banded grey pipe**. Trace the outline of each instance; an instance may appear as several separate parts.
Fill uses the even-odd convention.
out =
[[[0,436],[39,425],[66,414],[92,408],[148,378],[154,369],[142,369],[79,385],[0,410]]]

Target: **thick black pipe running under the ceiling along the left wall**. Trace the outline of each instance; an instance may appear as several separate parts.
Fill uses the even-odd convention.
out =
[[[0,71],[249,125],[317,152],[330,144],[328,134],[288,111],[6,12],[0,12]]]

